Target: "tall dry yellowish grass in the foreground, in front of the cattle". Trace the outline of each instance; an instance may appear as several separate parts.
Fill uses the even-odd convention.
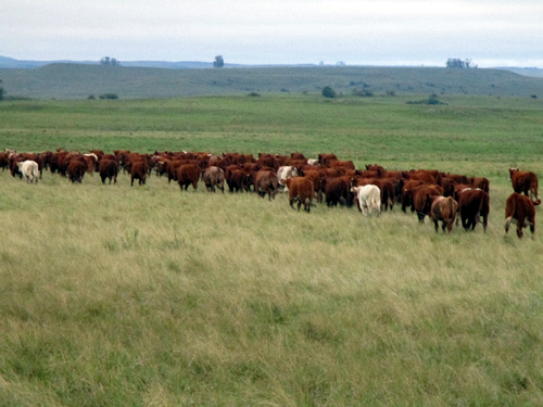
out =
[[[489,165],[489,171],[498,165]],[[540,405],[542,239],[0,174],[4,405]]]

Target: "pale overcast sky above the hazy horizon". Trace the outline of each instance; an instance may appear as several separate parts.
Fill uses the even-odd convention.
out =
[[[543,0],[0,0],[0,55],[543,68]]]

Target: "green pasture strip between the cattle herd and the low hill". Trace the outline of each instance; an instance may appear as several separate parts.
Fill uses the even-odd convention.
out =
[[[543,153],[541,100],[442,97],[447,104],[406,104],[420,99],[240,96],[4,102],[0,143],[35,151],[333,152],[361,165],[492,162],[504,168],[538,161]]]

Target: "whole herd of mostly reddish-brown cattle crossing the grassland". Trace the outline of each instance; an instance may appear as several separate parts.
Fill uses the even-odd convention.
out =
[[[338,160],[334,154],[318,154],[318,158],[306,158],[302,153],[290,156],[280,154],[223,153],[213,155],[195,152],[155,152],[141,154],[130,151],[114,151],[105,154],[92,150],[83,154],[58,150],[43,153],[17,153],[5,150],[0,153],[0,167],[9,169],[13,177],[38,182],[42,171],[49,169],[72,182],[81,182],[85,174],[99,173],[102,183],[117,182],[122,169],[130,175],[130,185],[138,180],[144,185],[151,174],[165,177],[168,183],[178,182],[181,191],[189,186],[195,190],[202,180],[207,191],[254,191],[260,196],[275,198],[279,191],[289,193],[289,203],[298,211],[306,212],[315,206],[313,201],[328,206],[356,205],[363,215],[392,209],[401,204],[402,211],[411,207],[424,222],[432,219],[435,231],[442,222],[443,231],[451,231],[462,220],[465,230],[473,230],[482,222],[487,230],[490,199],[489,180],[484,177],[441,173],[437,169],[387,170],[380,165],[366,165],[357,169],[352,161]],[[531,171],[509,169],[514,193],[506,201],[505,231],[517,222],[517,236],[522,228],[535,228],[538,177]],[[521,194],[523,193],[523,195]]]

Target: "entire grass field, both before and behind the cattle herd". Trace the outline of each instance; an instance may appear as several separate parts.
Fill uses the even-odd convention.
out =
[[[0,173],[0,405],[542,405],[543,239],[503,229],[507,168],[543,174],[542,102],[417,99],[1,103],[4,148],[334,152],[485,176],[491,213],[443,234],[397,206]]]

